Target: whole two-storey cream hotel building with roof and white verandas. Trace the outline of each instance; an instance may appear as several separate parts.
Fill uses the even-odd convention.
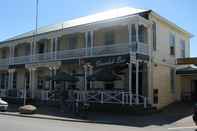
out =
[[[181,100],[177,58],[190,56],[191,37],[134,8],[42,27],[1,42],[0,97],[55,101],[54,90],[65,86],[77,102],[160,109]],[[60,72],[77,80],[47,79]]]

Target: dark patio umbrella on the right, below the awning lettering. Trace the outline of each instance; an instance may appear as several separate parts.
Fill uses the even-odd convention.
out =
[[[121,80],[121,77],[115,74],[112,68],[103,68],[95,71],[94,74],[87,77],[89,81],[116,81]]]

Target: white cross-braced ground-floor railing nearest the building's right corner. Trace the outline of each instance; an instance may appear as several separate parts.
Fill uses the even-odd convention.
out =
[[[71,91],[70,96],[76,102],[143,105],[147,108],[147,98],[125,91]]]

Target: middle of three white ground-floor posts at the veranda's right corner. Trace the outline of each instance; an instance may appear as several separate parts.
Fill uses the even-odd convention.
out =
[[[136,104],[139,104],[139,61],[136,61],[136,90],[135,90],[135,95],[136,95]]]

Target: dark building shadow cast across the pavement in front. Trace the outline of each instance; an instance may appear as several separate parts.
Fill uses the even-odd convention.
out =
[[[10,105],[9,112],[17,112],[18,105]],[[112,109],[114,110],[114,109]],[[176,121],[188,117],[192,114],[192,103],[174,103],[161,111],[154,113],[111,113],[111,112],[86,112],[71,113],[61,111],[57,107],[39,106],[37,114],[51,117],[63,117],[77,120],[91,121],[97,124],[115,124],[122,126],[146,127],[162,126],[175,123]],[[137,115],[136,115],[137,114]],[[73,120],[72,120],[73,121]]]

